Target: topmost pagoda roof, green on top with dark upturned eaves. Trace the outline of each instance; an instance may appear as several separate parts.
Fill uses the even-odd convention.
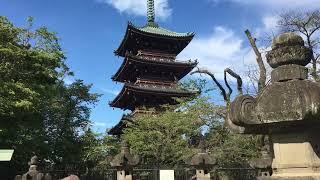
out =
[[[140,43],[137,43],[137,37],[140,37]],[[124,57],[126,52],[137,52],[140,49],[144,49],[146,47],[143,46],[143,41],[159,41],[161,42],[160,44],[179,44],[175,49],[169,49],[170,53],[179,54],[193,37],[194,33],[178,33],[159,27],[157,24],[138,27],[129,22],[125,36],[118,49],[115,50],[115,54]]]

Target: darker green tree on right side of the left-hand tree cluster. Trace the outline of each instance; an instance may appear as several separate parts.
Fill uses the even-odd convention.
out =
[[[50,160],[60,166],[81,162],[85,146],[80,134],[90,126],[90,105],[98,95],[89,93],[91,85],[81,80],[52,88],[41,112]]]

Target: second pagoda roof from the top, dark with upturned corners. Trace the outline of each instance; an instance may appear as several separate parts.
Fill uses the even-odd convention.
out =
[[[122,65],[118,69],[112,79],[118,82],[134,82],[146,67],[152,69],[152,74],[155,74],[156,71],[161,72],[170,72],[173,73],[176,80],[182,79],[187,75],[194,67],[198,64],[197,61],[159,61],[146,59],[141,56],[134,56],[127,54]],[[140,69],[140,71],[136,71]],[[146,73],[144,73],[146,74]],[[173,77],[172,77],[173,78]]]

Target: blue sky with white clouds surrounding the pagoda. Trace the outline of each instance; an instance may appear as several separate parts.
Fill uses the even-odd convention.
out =
[[[226,67],[245,75],[247,66],[255,64],[245,29],[263,39],[276,31],[280,12],[319,8],[320,0],[155,0],[155,5],[162,27],[196,33],[179,59],[198,59],[219,78]],[[108,106],[122,87],[110,79],[122,62],[113,50],[127,22],[144,25],[145,14],[146,0],[0,0],[0,15],[15,25],[24,26],[33,16],[36,26],[58,33],[75,78],[103,94],[91,115],[99,132],[115,125],[123,113]]]

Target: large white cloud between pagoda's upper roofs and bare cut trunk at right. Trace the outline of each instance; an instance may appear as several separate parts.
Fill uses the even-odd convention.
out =
[[[223,77],[225,68],[231,68],[241,74],[246,71],[244,63],[255,63],[250,48],[244,47],[243,41],[232,30],[218,26],[211,35],[196,37],[191,41],[179,58],[198,59],[199,67],[210,70],[219,79]]]

